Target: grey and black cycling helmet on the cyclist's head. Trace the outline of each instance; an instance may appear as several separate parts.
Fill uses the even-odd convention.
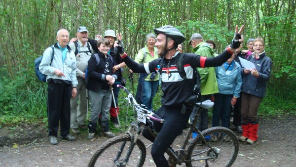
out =
[[[155,34],[165,34],[167,37],[171,37],[176,44],[181,44],[185,41],[184,35],[173,26],[162,26],[157,29],[154,29]]]

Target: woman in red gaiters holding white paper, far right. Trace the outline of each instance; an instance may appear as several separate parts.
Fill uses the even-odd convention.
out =
[[[254,41],[254,52],[247,58],[255,64],[254,69],[242,68],[242,129],[243,134],[238,139],[254,144],[258,139],[257,131],[259,105],[265,96],[266,83],[270,78],[272,62],[265,54],[265,42],[262,38]]]

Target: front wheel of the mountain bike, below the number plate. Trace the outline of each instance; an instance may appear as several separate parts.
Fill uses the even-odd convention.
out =
[[[138,139],[131,141],[129,134],[106,141],[92,156],[88,167],[142,167],[146,158],[146,147]]]

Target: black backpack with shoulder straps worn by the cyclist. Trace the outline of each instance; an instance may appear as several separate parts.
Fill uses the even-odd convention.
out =
[[[192,90],[194,96],[195,96],[195,99],[194,101],[195,102],[192,102],[192,104],[188,104],[188,105],[194,105],[196,102],[198,101],[202,101],[201,99],[201,93],[200,93],[200,84],[201,84],[201,77],[197,71],[196,68],[193,68],[193,80],[194,80],[194,86],[191,87],[188,85],[188,83],[186,82],[186,73],[185,73],[185,70],[184,70],[184,62],[183,62],[183,57],[184,57],[185,53],[181,53],[178,57],[178,60],[177,60],[177,69],[178,69],[178,73],[179,75],[181,76],[181,78],[183,78],[183,80],[185,81],[185,83],[187,84],[187,86]],[[159,75],[161,76],[161,73],[162,73],[162,68],[163,68],[163,59],[160,61],[160,65],[159,65],[159,68],[158,68],[158,71],[159,71]],[[189,99],[191,103],[191,100],[192,99]],[[185,100],[186,101],[186,100]]]

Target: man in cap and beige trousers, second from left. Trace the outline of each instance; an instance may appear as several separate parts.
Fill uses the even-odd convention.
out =
[[[77,94],[71,98],[71,124],[70,127],[74,134],[79,134],[79,128],[87,129],[85,116],[87,114],[86,84],[84,82],[87,62],[95,53],[88,40],[88,30],[84,26],[77,29],[77,41],[69,43],[76,56],[76,77],[78,81]],[[77,103],[79,99],[79,104]],[[78,106],[78,107],[77,107]]]

